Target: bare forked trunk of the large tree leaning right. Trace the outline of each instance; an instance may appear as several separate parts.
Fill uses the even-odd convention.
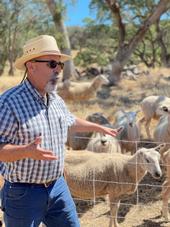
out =
[[[112,12],[112,15],[117,20],[117,24],[119,26],[119,35],[121,35],[121,40],[124,40],[125,36],[125,28],[122,23],[119,5],[115,0],[105,0],[109,9]],[[117,55],[112,62],[112,80],[111,85],[114,85],[116,82],[120,81],[121,71],[124,65],[129,61],[131,55],[135,51],[139,42],[142,41],[146,32],[149,30],[150,26],[154,24],[160,16],[165,13],[170,8],[169,0],[160,0],[159,3],[155,6],[153,12],[151,12],[150,16],[144,21],[143,25],[138,29],[134,37],[129,41],[128,44],[125,44],[123,41],[119,43]]]

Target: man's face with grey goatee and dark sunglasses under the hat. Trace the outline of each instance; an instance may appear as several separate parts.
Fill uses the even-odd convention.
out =
[[[60,57],[47,55],[27,63],[28,79],[42,95],[56,90],[57,80],[62,70],[61,65],[56,65],[55,62],[50,61],[59,62]]]

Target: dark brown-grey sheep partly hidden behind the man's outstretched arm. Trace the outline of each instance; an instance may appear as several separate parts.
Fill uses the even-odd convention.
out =
[[[86,118],[87,121],[109,126],[109,121],[101,113],[93,113]],[[85,149],[93,132],[71,132],[68,133],[67,145],[73,150]]]

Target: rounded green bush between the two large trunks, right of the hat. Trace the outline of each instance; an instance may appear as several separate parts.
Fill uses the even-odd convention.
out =
[[[75,27],[69,29],[71,46],[79,48],[75,64],[85,67],[97,63],[104,66],[110,62],[117,48],[117,41],[114,38],[117,31],[110,25],[95,24],[92,20],[86,21],[88,24],[82,29]]]

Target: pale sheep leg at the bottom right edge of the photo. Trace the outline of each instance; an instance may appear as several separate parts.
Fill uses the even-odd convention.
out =
[[[170,220],[168,211],[168,199],[170,197],[170,182],[165,180],[162,187],[162,216],[166,221]]]

